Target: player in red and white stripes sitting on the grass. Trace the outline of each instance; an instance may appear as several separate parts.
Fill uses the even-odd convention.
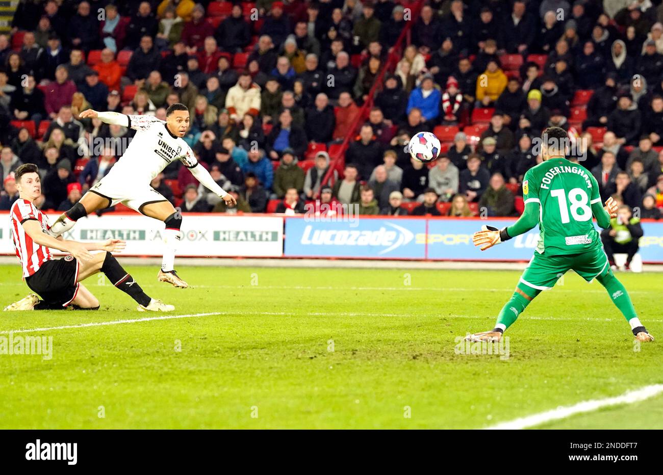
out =
[[[125,247],[123,240],[109,239],[83,244],[52,237],[48,233],[48,219],[34,206],[34,200],[41,195],[37,166],[21,165],[15,175],[19,199],[9,213],[11,235],[16,256],[23,268],[23,278],[34,293],[7,305],[5,310],[63,309],[69,305],[96,310],[99,301],[81,281],[97,272],[103,272],[115,287],[137,301],[139,311],[175,309],[172,305],[146,295],[113,257],[112,251],[120,251]],[[51,249],[68,252],[69,255],[54,259]],[[101,252],[91,254],[91,251]]]

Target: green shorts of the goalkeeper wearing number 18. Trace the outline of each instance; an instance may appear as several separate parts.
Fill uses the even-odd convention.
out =
[[[610,266],[603,246],[581,254],[545,256],[534,252],[530,265],[520,276],[520,284],[536,290],[549,290],[568,270],[575,270],[587,282],[609,272]]]

